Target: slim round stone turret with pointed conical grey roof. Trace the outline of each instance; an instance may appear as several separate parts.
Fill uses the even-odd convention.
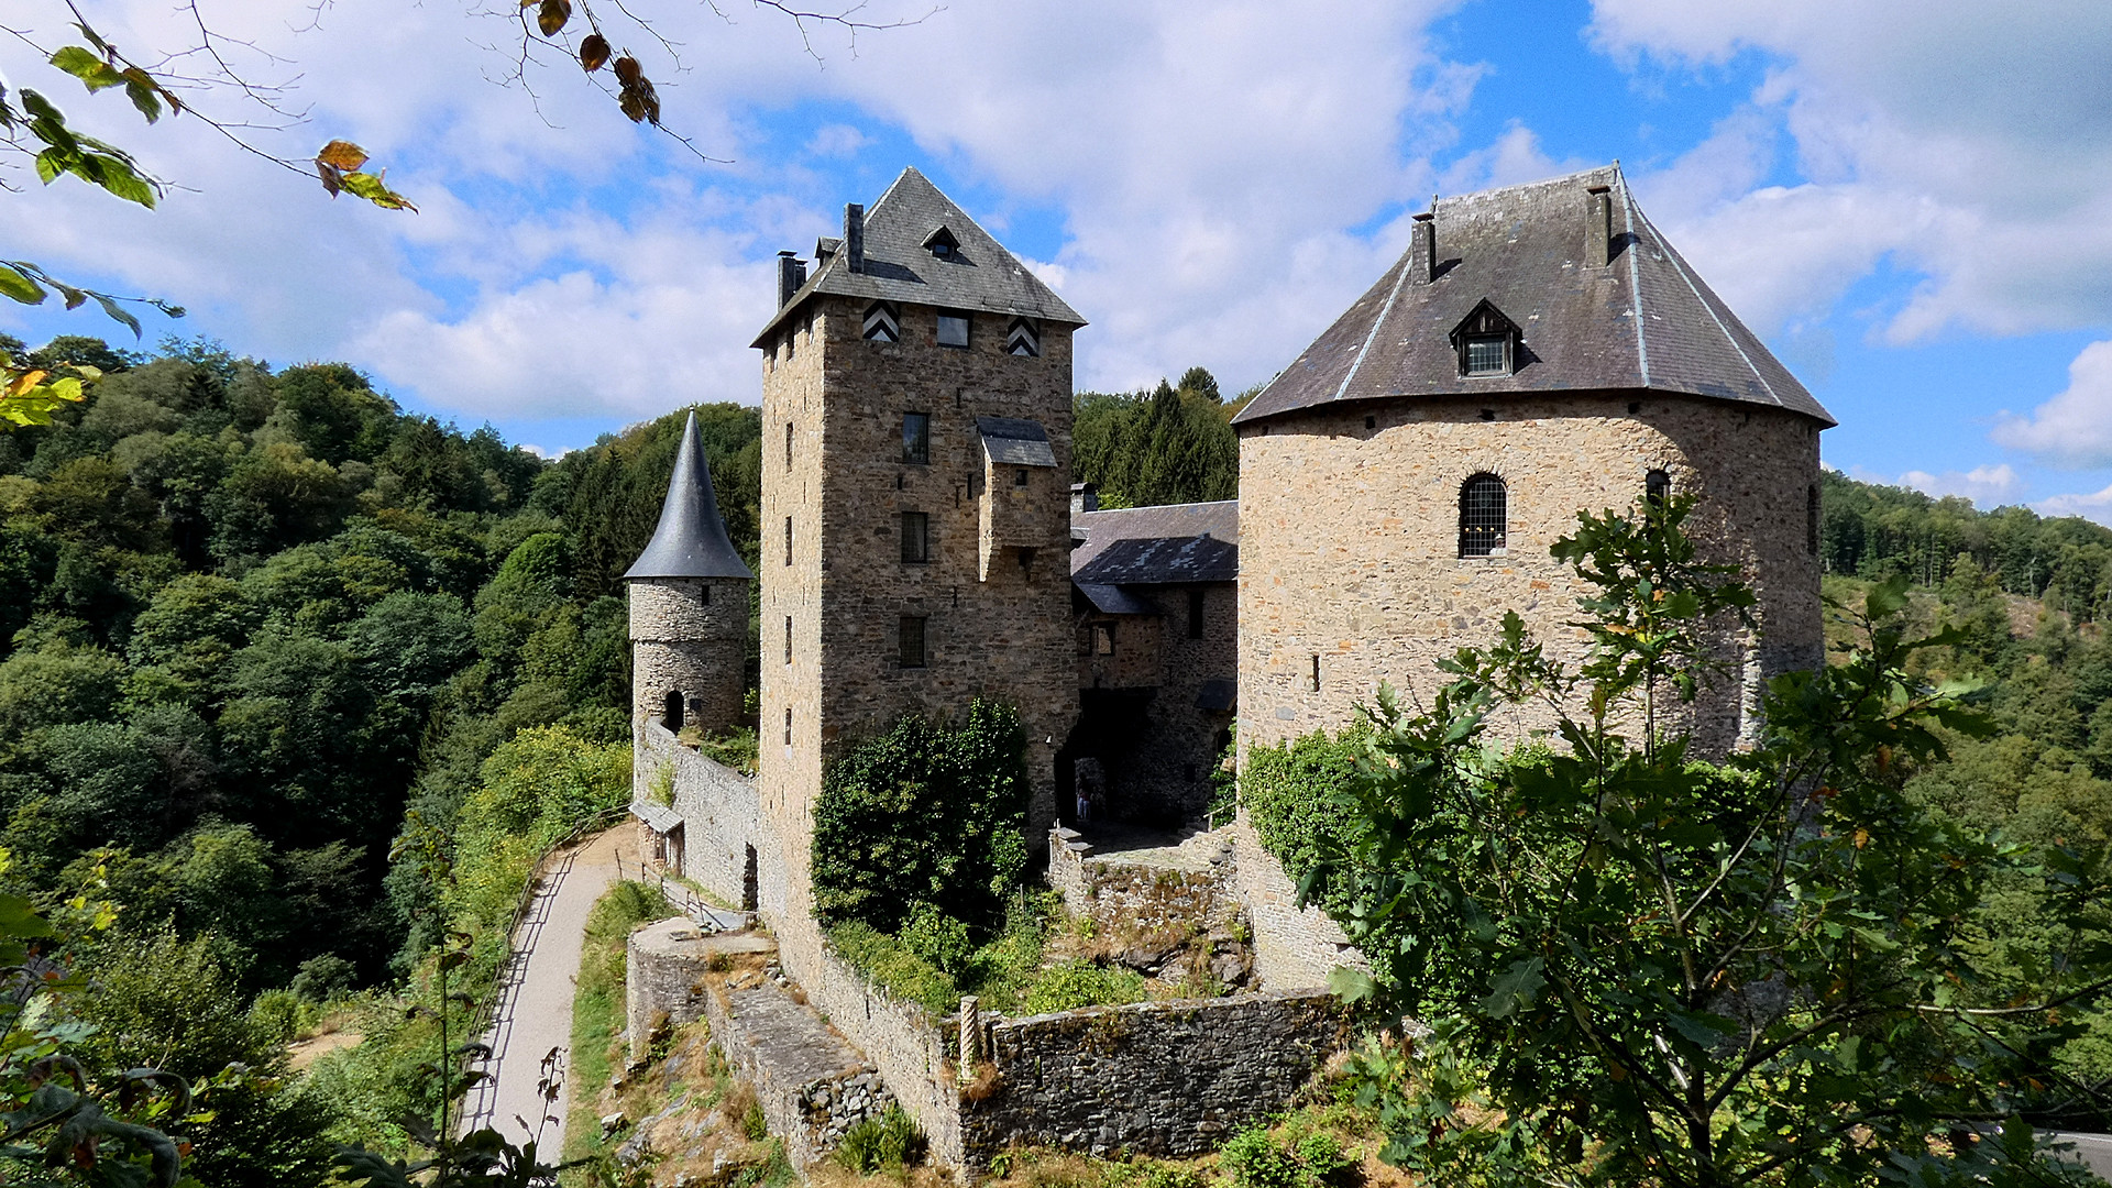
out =
[[[634,729],[659,721],[710,734],[739,723],[754,575],[718,518],[695,412],[682,427],[659,528],[623,579],[631,592]]]

